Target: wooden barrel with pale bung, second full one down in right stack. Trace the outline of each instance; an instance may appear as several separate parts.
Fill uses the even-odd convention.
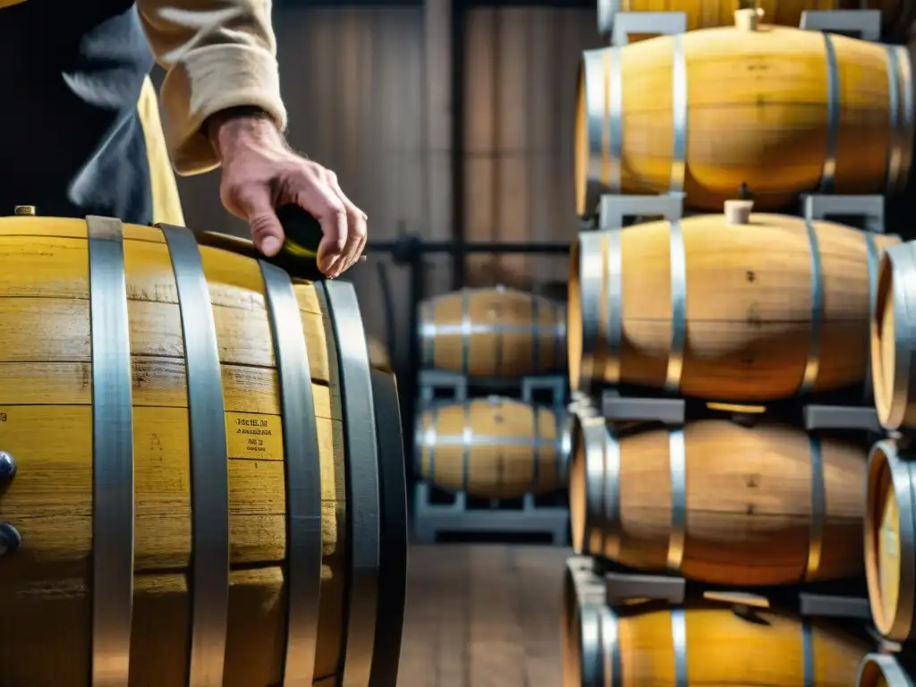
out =
[[[573,388],[624,382],[753,401],[862,381],[878,258],[900,239],[784,215],[733,220],[580,234],[566,326]]]

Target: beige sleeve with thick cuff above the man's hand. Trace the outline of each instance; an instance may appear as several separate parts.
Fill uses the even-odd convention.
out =
[[[270,0],[137,0],[149,44],[167,73],[162,84],[166,142],[176,171],[219,164],[202,134],[211,114],[256,105],[286,128]]]

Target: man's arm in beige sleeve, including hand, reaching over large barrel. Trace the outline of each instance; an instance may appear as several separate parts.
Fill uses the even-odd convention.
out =
[[[267,255],[283,240],[274,209],[299,204],[322,224],[322,271],[334,277],[350,267],[365,245],[365,213],[332,171],[286,145],[269,0],[137,0],[137,7],[167,71],[161,99],[176,170],[222,165],[221,198]]]

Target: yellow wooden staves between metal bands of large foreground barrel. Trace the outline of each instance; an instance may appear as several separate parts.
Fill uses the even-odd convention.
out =
[[[125,225],[133,368],[135,592],[130,685],[183,687],[191,610],[189,416],[178,293],[158,229]],[[93,399],[87,229],[0,219],[0,450],[18,472],[0,520],[23,545],[0,564],[0,684],[88,687]],[[229,462],[231,587],[224,685],[278,684],[286,632],[286,501],[278,375],[256,261],[209,247]],[[344,436],[314,287],[295,287],[322,457],[316,679],[337,673],[344,617]],[[235,431],[267,422],[264,445]]]

